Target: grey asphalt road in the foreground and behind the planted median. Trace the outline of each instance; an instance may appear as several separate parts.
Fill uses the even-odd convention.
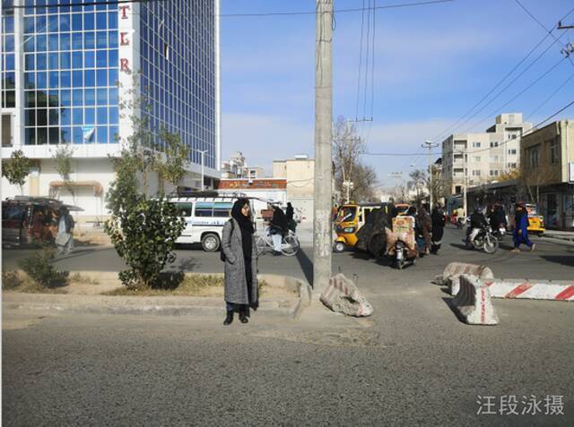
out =
[[[452,260],[497,277],[573,278],[574,248],[539,240],[535,252],[491,256],[461,238],[449,229],[439,256],[402,271],[335,254],[334,271],[358,275],[369,319],[315,308],[224,328],[215,315],[4,311],[3,424],[573,425],[574,304],[497,299],[499,325],[468,326],[431,279]],[[178,255],[187,269],[221,271],[218,254]],[[264,256],[259,268],[309,278],[303,255]],[[109,251],[58,264],[121,268]]]

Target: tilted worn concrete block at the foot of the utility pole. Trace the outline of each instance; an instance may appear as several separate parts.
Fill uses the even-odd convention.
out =
[[[349,316],[365,317],[373,313],[373,307],[361,295],[352,280],[343,274],[329,279],[329,285],[320,295],[319,300],[334,312],[343,312]]]

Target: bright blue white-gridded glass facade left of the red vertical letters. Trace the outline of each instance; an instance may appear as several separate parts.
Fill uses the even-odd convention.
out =
[[[26,5],[47,2],[62,5],[26,7],[22,21],[24,143],[117,142],[117,4],[26,0]],[[3,65],[12,65],[3,66],[4,107],[4,99],[10,98],[4,88],[13,71],[13,56],[7,54],[14,48],[13,15],[7,11],[3,47]]]

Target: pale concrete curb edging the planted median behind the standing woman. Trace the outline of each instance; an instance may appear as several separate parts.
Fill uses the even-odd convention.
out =
[[[87,271],[71,271],[86,276]],[[99,272],[98,272],[99,273]],[[219,276],[222,273],[197,273]],[[100,280],[117,279],[117,273],[103,272]],[[300,313],[310,305],[310,286],[297,278],[279,275],[259,275],[269,286],[299,292],[295,303],[284,308],[276,301],[262,301],[257,312],[266,316],[291,317],[298,319]],[[200,296],[108,296],[108,295],[58,295],[58,294],[22,294],[4,292],[3,308],[28,309],[49,312],[88,312],[100,314],[160,314],[188,315],[225,312],[221,298]]]

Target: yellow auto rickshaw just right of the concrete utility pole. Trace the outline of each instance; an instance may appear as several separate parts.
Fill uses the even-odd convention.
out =
[[[347,248],[354,247],[357,244],[357,232],[365,221],[370,212],[374,209],[388,209],[390,205],[380,203],[348,203],[339,208],[335,218],[335,243],[333,243],[333,252],[344,252]]]

